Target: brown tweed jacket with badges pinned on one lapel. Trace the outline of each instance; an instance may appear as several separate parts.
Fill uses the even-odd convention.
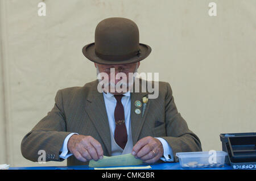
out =
[[[59,157],[65,137],[69,133],[90,135],[100,142],[104,155],[111,155],[110,128],[104,97],[97,91],[98,81],[82,87],[68,87],[57,91],[55,105],[30,132],[24,136],[21,151],[24,158],[37,162],[38,151],[46,151],[46,161],[63,161]],[[131,92],[131,134],[133,145],[146,136],[162,137],[177,152],[201,151],[201,143],[188,129],[186,121],[177,111],[169,83],[159,82],[159,96],[148,99],[144,115],[135,113],[135,100],[150,94]],[[142,108],[142,107],[141,107]],[[67,165],[88,165],[71,156]]]

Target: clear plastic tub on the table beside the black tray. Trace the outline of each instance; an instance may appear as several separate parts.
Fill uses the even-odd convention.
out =
[[[180,166],[183,169],[203,169],[223,167],[225,151],[197,151],[176,153],[179,158]]]

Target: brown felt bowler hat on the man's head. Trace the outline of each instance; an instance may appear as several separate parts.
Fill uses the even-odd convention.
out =
[[[127,18],[107,18],[98,23],[95,43],[82,48],[82,53],[97,64],[132,64],[146,58],[150,46],[139,43],[137,25]]]

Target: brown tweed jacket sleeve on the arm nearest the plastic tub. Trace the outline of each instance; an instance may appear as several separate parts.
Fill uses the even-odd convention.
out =
[[[162,138],[171,146],[175,162],[179,161],[176,157],[177,152],[202,150],[199,138],[188,129],[186,121],[177,111],[169,83],[167,83],[167,94],[165,97],[165,121],[167,136]]]

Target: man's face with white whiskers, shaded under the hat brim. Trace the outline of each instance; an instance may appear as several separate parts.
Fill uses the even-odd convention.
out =
[[[126,75],[127,79],[125,83],[127,83],[127,85],[130,85],[131,82],[129,82],[129,73],[134,73],[135,71],[137,71],[137,68],[139,67],[139,65],[140,65],[139,62],[134,64],[121,64],[121,65],[102,65],[102,64],[94,63],[94,66],[96,68],[98,66],[99,73],[108,74],[109,82],[111,82],[110,85],[117,85],[118,82],[123,81],[122,80],[123,77],[117,76],[118,73],[122,73],[123,75]],[[117,94],[117,92],[115,92],[115,94]]]

